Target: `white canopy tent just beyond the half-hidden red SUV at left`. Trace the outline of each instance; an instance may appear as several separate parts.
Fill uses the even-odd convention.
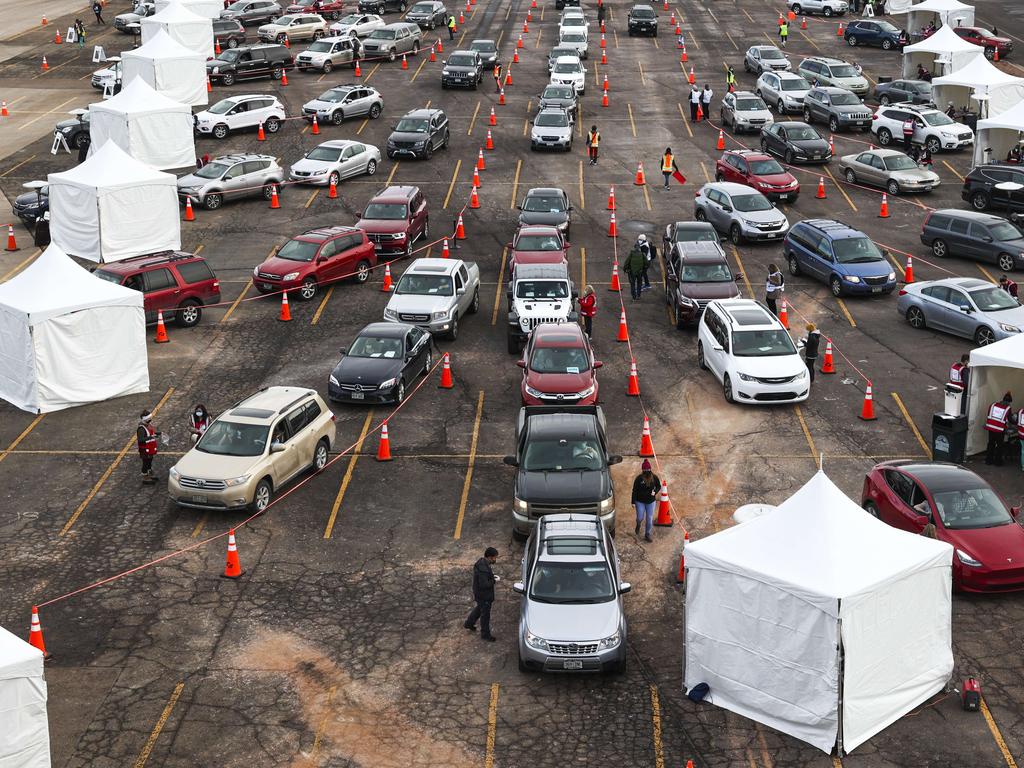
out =
[[[65,253],[118,261],[181,248],[176,179],[130,157],[114,141],[81,165],[51,173],[47,183],[50,238]]]

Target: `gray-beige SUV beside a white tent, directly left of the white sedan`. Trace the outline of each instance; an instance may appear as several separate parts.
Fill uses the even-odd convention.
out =
[[[269,155],[224,155],[178,179],[178,198],[215,211],[225,200],[262,195],[269,200],[281,190],[285,171]]]

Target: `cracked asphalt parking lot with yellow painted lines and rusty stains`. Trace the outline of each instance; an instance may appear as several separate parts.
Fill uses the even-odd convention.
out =
[[[126,10],[123,5],[112,3],[108,15]],[[440,60],[428,61],[424,51],[408,70],[399,62],[362,69],[362,82],[385,99],[379,120],[321,126],[321,136],[310,135],[304,121],[290,120],[265,143],[257,143],[254,133],[199,139],[200,155],[258,150],[287,166],[331,138],[357,136],[383,148],[390,126],[414,108],[441,108],[452,126],[451,146],[430,161],[385,159],[375,176],[344,181],[337,200],[324,188],[288,185],[281,210],[248,200],[198,211],[195,222],[183,222],[182,247],[202,249],[221,281],[224,305],[209,309],[195,329],[171,326],[169,344],[150,346],[150,394],[43,417],[0,404],[0,623],[27,633],[31,605],[52,601],[41,616],[53,654],[46,675],[54,765],[664,768],[693,760],[696,766],[762,768],[1014,768],[1021,761],[1019,594],[954,597],[953,682],[969,675],[981,680],[982,715],[962,712],[954,694],[936,696],[842,760],[683,695],[683,592],[675,577],[684,531],[699,539],[729,525],[741,504],[780,502],[821,461],[859,501],[864,472],[876,462],[930,458],[929,425],[949,362],[970,346],[911,329],[896,314],[895,296],[838,300],[825,286],[802,278],[786,281],[791,323],[797,329],[812,321],[834,340],[839,375],[819,377],[800,407],[726,403],[719,385],[696,367],[695,332],[670,323],[659,285],[638,303],[623,296],[631,344],[616,343],[620,295],[608,291],[612,260],[625,256],[636,234],[655,236],[659,245],[666,223],[692,218],[693,193],[713,178],[720,155],[717,103],[725,65],[734,68],[740,88],[753,86],[742,53],[751,44],[775,42],[781,6],[683,0],[658,11],[663,34],[648,39],[627,36],[629,4],[607,5],[608,63],[598,63],[598,36],[571,154],[531,153],[526,137],[547,82],[547,51],[557,38],[552,0],[532,10],[525,33],[528,0],[478,0],[457,39],[444,40],[451,52],[463,41],[494,38],[508,61],[522,34],[505,105],[498,104],[489,78],[479,91],[442,91]],[[593,30],[595,8],[588,4],[587,10]],[[1013,0],[983,0],[978,12],[999,19],[1004,34],[1022,42],[1024,16]],[[668,29],[670,13],[682,19],[685,67]],[[70,24],[61,18],[55,26]],[[809,18],[806,31],[791,35],[790,56],[849,56],[853,51],[836,27],[835,20]],[[5,89],[16,94],[7,99],[9,122],[0,123],[0,134],[16,134],[12,139],[8,133],[9,154],[0,160],[0,190],[8,199],[24,182],[74,164],[72,156],[49,154],[50,126],[67,110],[98,98],[87,82],[96,69],[88,48],[54,46],[53,29],[10,41],[8,52],[16,52],[0,63],[0,95]],[[108,53],[130,47],[128,36],[101,34],[95,42]],[[42,53],[49,63],[45,75]],[[893,74],[899,61],[897,53],[877,49],[858,48],[855,57],[873,80]],[[1002,66],[1021,74],[1013,59]],[[710,82],[716,91],[712,120],[698,125],[683,118],[690,67],[698,83]],[[602,108],[605,76],[609,106]],[[295,72],[287,87],[255,81],[216,87],[211,96],[273,92],[289,115],[298,115],[328,86],[353,80],[348,70],[325,77]],[[487,125],[492,106],[495,127]],[[603,137],[596,167],[586,162],[583,142],[593,124]],[[239,529],[247,572],[240,581],[220,579],[224,535],[247,515],[178,509],[162,482],[140,486],[136,415],[159,408],[155,420],[170,442],[156,466],[166,477],[175,455],[187,449],[185,419],[195,402],[219,413],[268,384],[326,393],[339,347],[381,318],[387,298],[379,290],[381,273],[362,286],[339,284],[311,302],[293,300],[293,321],[286,324],[276,319],[276,299],[258,298],[253,266],[294,234],[354,223],[388,183],[420,186],[432,237],[451,233],[468,202],[488,129],[496,148],[486,153],[481,172],[481,207],[465,210],[467,239],[453,251],[479,264],[481,310],[463,324],[457,341],[437,343],[452,353],[456,387],[439,389],[435,370],[393,415],[391,407],[335,403],[332,463]],[[837,155],[869,140],[868,134],[837,134]],[[730,147],[754,141],[726,132]],[[687,177],[685,186],[669,191],[656,178],[667,145]],[[640,162],[646,186],[633,183]],[[841,181],[838,161],[821,169],[825,200],[813,191],[821,171],[805,167],[796,171],[803,194],[783,210],[791,221],[835,217],[868,232],[893,253],[898,272],[912,254],[918,280],[994,280],[998,274],[989,266],[936,261],[918,239],[929,208],[963,206],[959,187],[969,168],[968,152],[937,156],[942,185],[929,195],[890,198],[891,216],[882,219],[881,191]],[[513,450],[520,374],[506,353],[500,304],[515,205],[539,185],[563,187],[575,206],[570,270],[579,285],[597,290],[594,344],[605,362],[601,402],[612,449],[626,456],[614,470],[617,543],[634,589],[627,597],[629,667],[617,677],[524,675],[516,667],[518,597],[508,585],[522,548],[511,537],[512,475],[502,457]],[[617,240],[606,236],[611,185]],[[0,280],[36,253],[31,234],[20,225],[16,233],[20,250],[0,253]],[[725,246],[744,275],[744,295],[762,298],[766,266],[778,261],[779,247]],[[434,243],[418,255],[439,251]],[[392,265],[396,276],[407,264]],[[656,274],[659,284],[662,272]],[[626,394],[630,350],[640,372],[639,399]],[[879,417],[872,422],[858,419],[867,379]],[[672,527],[656,529],[653,544],[633,536],[628,493],[639,469],[645,414],[677,518]],[[395,459],[386,464],[374,460],[385,418]],[[986,467],[977,459],[969,466],[1012,503],[1024,494],[1013,466]],[[501,550],[495,644],[480,643],[461,627],[470,606],[470,569],[486,546]],[[177,554],[71,594],[169,553]]]

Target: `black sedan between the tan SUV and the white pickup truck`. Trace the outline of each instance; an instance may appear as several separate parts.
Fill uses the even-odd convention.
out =
[[[403,323],[371,323],[341,353],[327,394],[343,402],[401,402],[433,365],[430,334]]]

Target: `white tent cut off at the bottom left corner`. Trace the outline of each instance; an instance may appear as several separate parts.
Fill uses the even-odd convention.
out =
[[[0,627],[0,766],[50,768],[43,653]]]

